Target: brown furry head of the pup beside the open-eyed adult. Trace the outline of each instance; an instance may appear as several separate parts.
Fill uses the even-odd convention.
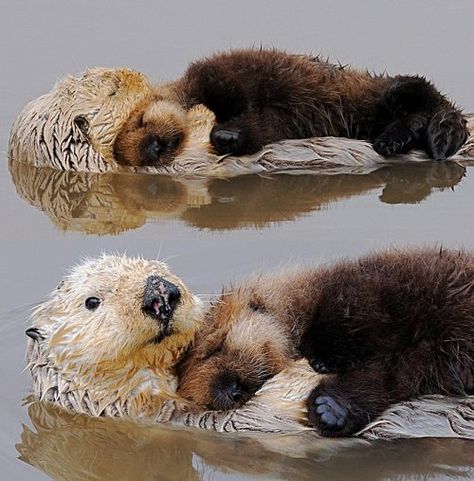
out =
[[[179,394],[209,409],[242,406],[291,356],[289,335],[253,288],[223,294],[178,368]]]

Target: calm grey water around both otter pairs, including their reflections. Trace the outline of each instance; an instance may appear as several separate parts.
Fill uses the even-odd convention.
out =
[[[474,111],[474,4],[366,1],[0,4],[0,459],[11,480],[472,479],[462,441],[308,443],[150,428],[22,406],[29,308],[85,255],[168,259],[197,293],[255,270],[390,245],[474,248],[474,168],[183,182],[8,165],[27,100],[88,66],[173,78],[218,48],[275,45],[381,71],[422,72]],[[360,4],[359,4],[360,5]],[[27,179],[25,181],[25,179]],[[38,186],[42,186],[39,192]]]

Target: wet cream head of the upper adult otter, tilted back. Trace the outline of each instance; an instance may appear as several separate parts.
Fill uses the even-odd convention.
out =
[[[20,113],[9,156],[61,170],[111,170],[117,133],[150,92],[148,79],[128,69],[94,68],[67,77]]]

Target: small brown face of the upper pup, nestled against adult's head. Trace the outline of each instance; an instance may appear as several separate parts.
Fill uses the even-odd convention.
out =
[[[158,95],[142,102],[120,130],[114,156],[121,165],[164,167],[183,150],[186,112]]]

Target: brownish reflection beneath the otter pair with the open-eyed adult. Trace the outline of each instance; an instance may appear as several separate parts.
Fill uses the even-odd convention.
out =
[[[20,459],[55,480],[472,479],[472,442],[461,440],[309,441],[303,436],[244,437],[73,415],[29,405]]]

